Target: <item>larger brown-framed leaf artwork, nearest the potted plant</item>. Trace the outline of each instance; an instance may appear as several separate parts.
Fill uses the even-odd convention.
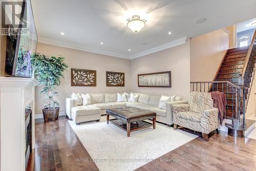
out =
[[[96,71],[71,68],[71,86],[96,87]]]

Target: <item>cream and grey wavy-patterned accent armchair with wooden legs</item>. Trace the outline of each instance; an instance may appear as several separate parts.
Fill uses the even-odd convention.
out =
[[[210,93],[191,92],[188,104],[173,105],[174,129],[179,125],[201,132],[203,138],[208,141],[210,132],[218,132],[218,113]]]

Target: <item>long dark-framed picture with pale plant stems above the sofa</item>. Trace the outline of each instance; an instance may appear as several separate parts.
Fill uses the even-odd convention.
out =
[[[170,88],[170,71],[138,74],[138,87]]]

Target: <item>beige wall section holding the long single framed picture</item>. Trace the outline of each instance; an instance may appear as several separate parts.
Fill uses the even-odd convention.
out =
[[[189,95],[189,40],[186,44],[132,59],[131,92],[156,95]],[[171,71],[172,88],[138,87],[138,74]]]

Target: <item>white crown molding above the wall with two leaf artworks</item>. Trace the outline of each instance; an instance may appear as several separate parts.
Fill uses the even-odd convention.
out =
[[[98,53],[98,54],[101,54],[101,55],[108,55],[108,56],[130,59],[130,56],[127,56],[127,55],[123,55],[123,54],[119,54],[119,53],[113,53],[113,52],[109,52],[109,51],[102,51],[102,50],[99,50],[99,49],[93,49],[93,48],[88,48],[88,47],[83,47],[83,46],[78,46],[78,45],[73,45],[73,44],[69,44],[69,43],[66,43],[66,42],[56,41],[56,40],[52,40],[52,39],[48,39],[48,38],[44,38],[44,37],[39,37],[38,42],[41,42],[43,44],[49,44],[49,45],[64,47],[64,48],[76,49],[76,50],[80,50],[80,51]]]

